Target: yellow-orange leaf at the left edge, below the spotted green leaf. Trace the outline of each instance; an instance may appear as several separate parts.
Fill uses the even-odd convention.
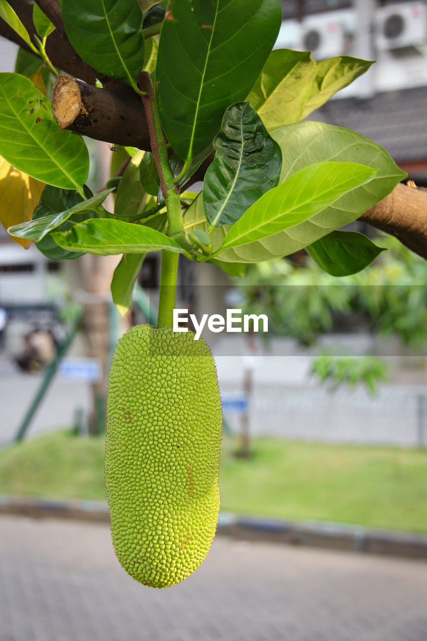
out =
[[[45,183],[12,167],[0,156],[0,222],[4,229],[19,222],[31,221]],[[22,247],[31,245],[28,238],[14,238]]]

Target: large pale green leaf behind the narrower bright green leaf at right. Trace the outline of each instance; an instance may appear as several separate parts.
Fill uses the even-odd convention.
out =
[[[283,155],[281,181],[302,167],[314,162],[335,160],[360,162],[378,169],[368,187],[362,186],[341,197],[332,206],[318,213],[310,221],[264,238],[257,242],[226,249],[217,260],[221,262],[262,262],[288,256],[306,247],[349,222],[353,222],[389,194],[405,178],[383,147],[364,136],[323,122],[298,122],[270,132]],[[208,229],[203,199],[197,197],[184,215],[184,224],[190,229]],[[230,227],[212,230],[213,251],[217,251]]]

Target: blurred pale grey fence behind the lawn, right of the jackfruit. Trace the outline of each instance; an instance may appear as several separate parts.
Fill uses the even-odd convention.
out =
[[[225,401],[242,397],[238,385],[224,385],[221,392]],[[239,431],[239,414],[224,410]],[[427,447],[427,392],[421,385],[385,385],[373,398],[363,388],[330,393],[258,383],[249,398],[249,429],[253,436]]]

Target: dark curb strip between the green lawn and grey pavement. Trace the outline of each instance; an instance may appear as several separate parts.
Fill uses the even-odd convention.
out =
[[[33,519],[72,519],[109,523],[106,501],[56,501],[0,495],[0,515]],[[367,529],[341,523],[240,517],[220,512],[217,534],[246,541],[309,545],[332,550],[427,559],[427,537],[405,532]]]

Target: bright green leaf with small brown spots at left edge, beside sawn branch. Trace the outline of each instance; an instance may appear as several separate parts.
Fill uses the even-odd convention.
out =
[[[61,131],[51,104],[29,78],[0,73],[0,154],[44,183],[80,188],[89,171],[85,143]]]

